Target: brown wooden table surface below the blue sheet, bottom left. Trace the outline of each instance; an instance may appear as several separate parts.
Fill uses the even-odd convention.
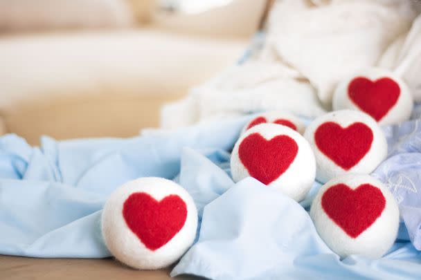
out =
[[[37,259],[0,255],[0,279],[172,279],[170,268],[139,271],[114,259]],[[175,279],[199,279],[182,276]]]

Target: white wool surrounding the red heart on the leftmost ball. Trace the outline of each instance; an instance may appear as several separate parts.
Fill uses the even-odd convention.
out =
[[[176,194],[187,206],[186,223],[181,230],[168,243],[154,251],[145,247],[123,218],[123,204],[136,192],[145,192],[156,200]],[[125,183],[111,194],[102,212],[102,236],[107,248],[116,259],[139,270],[165,268],[177,261],[192,245],[196,230],[195,202],[185,189],[164,178],[139,178]]]

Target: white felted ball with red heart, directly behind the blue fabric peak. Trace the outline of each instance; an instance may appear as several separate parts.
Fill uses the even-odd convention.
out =
[[[231,174],[235,182],[251,176],[299,201],[314,183],[316,162],[300,133],[279,124],[258,124],[235,143]]]

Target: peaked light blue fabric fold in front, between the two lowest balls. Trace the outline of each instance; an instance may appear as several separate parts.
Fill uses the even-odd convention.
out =
[[[397,242],[379,260],[341,261],[291,198],[247,178],[205,207],[199,241],[172,275],[210,279],[418,279],[421,255]]]

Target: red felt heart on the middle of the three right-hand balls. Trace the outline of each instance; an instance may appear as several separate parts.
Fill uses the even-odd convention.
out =
[[[325,156],[349,170],[370,151],[373,131],[362,122],[355,122],[346,128],[335,122],[325,122],[316,129],[314,140]]]

